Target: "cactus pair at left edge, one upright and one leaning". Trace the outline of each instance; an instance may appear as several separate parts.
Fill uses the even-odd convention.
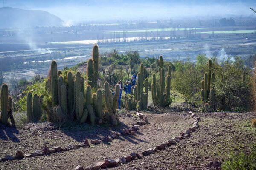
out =
[[[10,118],[12,127],[16,127],[15,120],[12,115],[12,97],[8,96],[8,85],[3,84],[1,87],[1,123],[9,125],[8,118]]]

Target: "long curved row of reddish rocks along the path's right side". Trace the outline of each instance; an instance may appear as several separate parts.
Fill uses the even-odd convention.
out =
[[[200,121],[200,118],[195,113],[192,113],[191,111],[189,111],[188,113],[191,114],[192,118],[195,119],[195,122],[193,123],[192,127],[189,127],[188,130],[181,132],[179,136],[169,139],[167,142],[158,144],[153,149],[149,148],[148,150],[145,150],[145,151],[139,152],[139,153],[133,152],[130,155],[120,157],[119,159],[116,159],[116,160],[115,159],[105,159],[104,161],[97,162],[95,165],[88,166],[86,168],[83,168],[83,167],[81,167],[81,165],[78,165],[75,168],[75,170],[99,170],[101,168],[106,168],[106,167],[117,167],[120,164],[125,164],[125,163],[131,162],[135,159],[142,159],[144,156],[149,156],[152,153],[160,152],[160,150],[163,150],[166,147],[177,144],[182,139],[191,137],[191,133],[193,133],[199,129],[198,122]]]

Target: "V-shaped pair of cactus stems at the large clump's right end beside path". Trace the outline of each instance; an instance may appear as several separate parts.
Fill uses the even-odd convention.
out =
[[[118,99],[120,94],[120,86],[116,85],[114,98],[112,97],[111,90],[109,88],[108,82],[104,83],[104,92],[105,92],[105,102],[108,113],[111,117],[112,125],[117,125],[118,121],[116,119],[116,112],[118,111]]]

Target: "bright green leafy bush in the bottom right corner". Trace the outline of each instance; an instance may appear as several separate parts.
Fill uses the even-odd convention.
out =
[[[256,170],[256,147],[250,152],[231,153],[230,158],[222,164],[223,170]]]

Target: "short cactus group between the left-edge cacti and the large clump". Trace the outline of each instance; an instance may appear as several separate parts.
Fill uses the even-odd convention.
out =
[[[34,94],[32,98],[32,93],[27,94],[27,121],[28,122],[38,122],[42,116],[41,104],[43,102],[44,95],[40,97]]]

